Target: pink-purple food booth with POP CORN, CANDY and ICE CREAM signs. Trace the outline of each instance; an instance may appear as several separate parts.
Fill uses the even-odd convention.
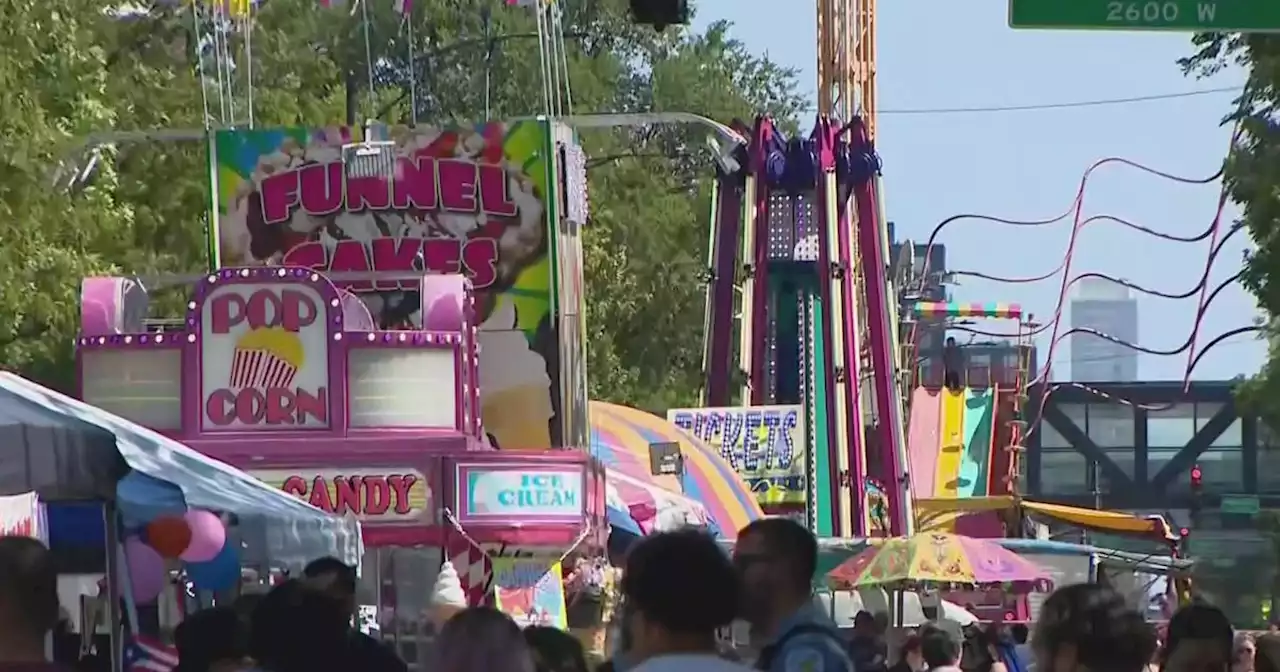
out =
[[[180,329],[165,330],[138,320],[146,294],[129,283],[84,283],[84,399],[358,520],[361,604],[406,659],[420,657],[451,556],[479,556],[460,572],[475,604],[493,588],[490,550],[547,572],[600,547],[603,477],[584,452],[498,452],[484,439],[475,298],[461,275],[421,276],[422,328],[393,330],[311,269],[210,273]]]

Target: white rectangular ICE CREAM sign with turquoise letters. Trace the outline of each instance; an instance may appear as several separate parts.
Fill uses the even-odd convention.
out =
[[[582,517],[581,468],[458,466],[463,518],[564,522]]]

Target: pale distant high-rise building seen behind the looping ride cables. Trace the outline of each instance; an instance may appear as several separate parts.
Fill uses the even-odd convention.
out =
[[[1076,283],[1068,307],[1071,329],[1093,329],[1120,340],[1138,340],[1138,300],[1128,287],[1102,278]],[[1138,352],[1092,334],[1070,337],[1071,380],[1138,380]]]

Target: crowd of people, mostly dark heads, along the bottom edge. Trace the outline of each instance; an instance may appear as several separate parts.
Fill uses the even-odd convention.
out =
[[[1160,631],[1100,584],[1064,586],[1037,622],[957,632],[927,623],[899,632],[859,614],[846,637],[812,599],[818,545],[786,518],[753,522],[732,556],[696,530],[662,532],[627,554],[621,630],[603,672],[1280,672],[1280,632],[1236,635],[1207,604],[1178,611]],[[0,538],[0,672],[61,669],[46,637],[59,617],[50,552]],[[264,595],[191,614],[174,632],[177,672],[407,672],[381,641],[352,626],[356,572],[325,558]],[[751,626],[754,660],[724,646],[722,628]],[[581,644],[549,627],[521,630],[470,607],[439,630],[422,672],[593,672]]]

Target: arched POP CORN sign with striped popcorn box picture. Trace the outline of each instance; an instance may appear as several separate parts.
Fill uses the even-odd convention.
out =
[[[201,429],[329,426],[329,330],[303,283],[223,284],[201,307]]]

